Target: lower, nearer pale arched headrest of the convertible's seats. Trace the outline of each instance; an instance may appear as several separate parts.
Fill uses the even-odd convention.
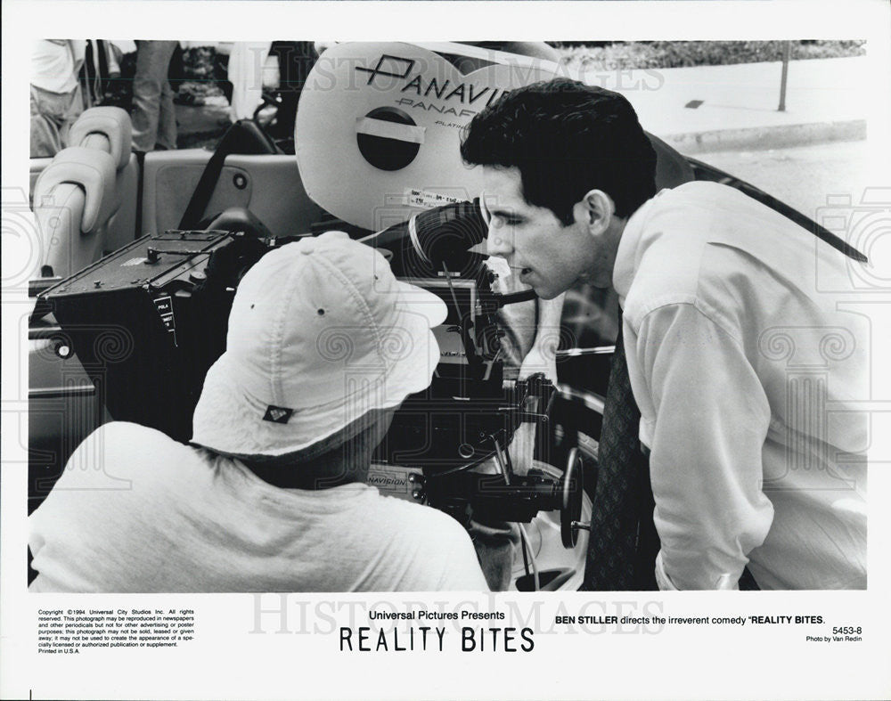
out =
[[[53,202],[53,188],[59,183],[73,183],[84,189],[82,232],[92,232],[114,213],[115,162],[108,153],[79,146],[59,151],[34,184],[35,211],[59,204]]]

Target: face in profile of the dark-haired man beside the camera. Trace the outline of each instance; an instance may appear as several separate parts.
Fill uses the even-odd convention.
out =
[[[507,259],[519,280],[543,299],[552,299],[585,280],[609,287],[612,267],[598,265],[599,242],[586,226],[583,208],[576,206],[572,224],[523,199],[519,168],[483,167],[484,216],[489,229],[486,249]]]

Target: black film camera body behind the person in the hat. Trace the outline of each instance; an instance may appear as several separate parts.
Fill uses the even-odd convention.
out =
[[[523,422],[546,423],[555,395],[542,375],[505,380],[496,313],[532,298],[499,295],[486,256],[478,205],[458,202],[416,214],[364,239],[388,257],[397,277],[446,302],[434,330],[441,349],[431,386],[406,398],[380,444],[372,484],[470,518],[528,522],[559,511],[573,547],[581,518],[580,461],[562,474],[514,473],[507,446]],[[271,249],[300,237],[274,237],[247,210],[225,211],[203,230],[145,236],[40,295],[59,331],[58,348],[78,355],[114,420],[157,428],[188,441],[208,368],[225,350],[239,281]],[[477,471],[486,463],[494,467]],[[394,486],[396,489],[394,489]]]

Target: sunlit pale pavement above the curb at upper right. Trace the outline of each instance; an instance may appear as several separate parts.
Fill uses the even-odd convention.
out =
[[[570,75],[625,94],[645,129],[678,151],[696,154],[865,139],[866,61],[790,61],[783,111],[780,61],[622,71],[592,64]],[[221,134],[227,115],[223,97],[176,105],[181,141]]]

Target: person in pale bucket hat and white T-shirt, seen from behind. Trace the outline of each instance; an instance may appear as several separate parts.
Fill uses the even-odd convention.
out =
[[[266,254],[192,444],[126,422],[88,437],[30,518],[31,591],[485,591],[457,521],[364,484],[445,317],[344,233]]]

